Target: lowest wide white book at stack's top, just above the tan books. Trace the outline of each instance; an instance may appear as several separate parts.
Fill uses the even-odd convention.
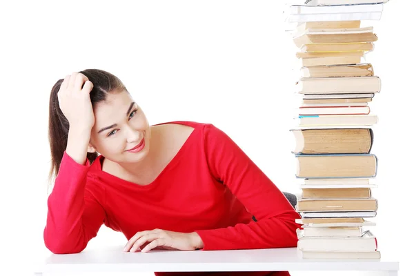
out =
[[[309,21],[355,21],[355,20],[380,20],[382,12],[342,12],[324,14],[290,14],[287,23]]]

